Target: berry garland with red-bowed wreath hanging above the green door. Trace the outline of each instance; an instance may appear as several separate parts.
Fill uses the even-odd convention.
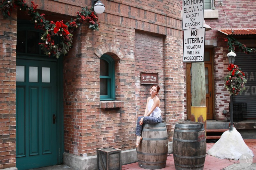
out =
[[[28,10],[28,15],[32,17],[36,29],[44,30],[41,37],[42,43],[39,43],[44,53],[48,56],[59,58],[60,55],[68,53],[71,47],[74,30],[83,23],[89,24],[89,28],[99,30],[98,16],[93,12],[93,7],[88,9],[82,8],[81,12],[76,12],[76,19],[71,18],[67,23],[63,21],[48,21],[44,18],[45,14],[39,14],[36,10],[37,6],[33,1],[31,7],[28,7],[25,0],[3,0],[0,8],[3,10],[4,18],[11,16],[12,9],[19,7],[22,11]],[[54,42],[54,38],[59,37],[59,43]]]

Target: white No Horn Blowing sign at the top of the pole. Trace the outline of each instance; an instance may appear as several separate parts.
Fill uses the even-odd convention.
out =
[[[183,0],[182,30],[203,28],[204,0]]]

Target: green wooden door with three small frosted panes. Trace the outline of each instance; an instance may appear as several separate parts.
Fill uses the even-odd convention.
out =
[[[17,59],[16,167],[19,170],[57,164],[56,98],[56,62]]]

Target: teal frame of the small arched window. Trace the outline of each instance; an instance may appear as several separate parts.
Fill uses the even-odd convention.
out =
[[[108,63],[108,76],[100,75],[100,79],[107,79],[107,95],[100,95],[100,101],[115,100],[115,60],[107,54],[103,54],[100,60]]]

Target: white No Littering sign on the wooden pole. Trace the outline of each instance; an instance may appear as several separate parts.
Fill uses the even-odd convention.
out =
[[[204,61],[205,28],[185,30],[183,36],[183,62]]]

